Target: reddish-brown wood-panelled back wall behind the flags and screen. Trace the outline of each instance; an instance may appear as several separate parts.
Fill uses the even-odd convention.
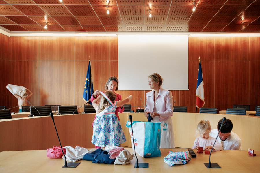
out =
[[[7,37],[0,34],[0,40],[4,74],[1,105],[17,105],[6,84],[29,88],[34,93],[29,101],[34,105],[83,105],[89,59],[94,90],[104,91],[107,79],[118,76],[117,37]],[[233,104],[250,104],[250,110],[254,110],[255,105],[260,105],[259,47],[260,37],[189,37],[189,90],[172,91],[175,106],[188,106],[188,112],[195,112],[200,56],[205,107],[224,110]],[[132,67],[129,72],[131,70],[137,69]],[[135,82],[134,79],[131,82]],[[145,104],[146,92],[116,91],[122,98],[133,95],[129,103],[132,110],[142,106],[139,98]]]

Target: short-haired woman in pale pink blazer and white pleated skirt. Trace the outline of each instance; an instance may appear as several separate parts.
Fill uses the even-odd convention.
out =
[[[152,91],[146,93],[146,108],[144,115],[153,118],[152,122],[167,124],[167,130],[161,133],[160,148],[174,148],[174,134],[172,126],[173,99],[171,91],[161,88],[162,78],[153,73],[148,76],[149,87]]]

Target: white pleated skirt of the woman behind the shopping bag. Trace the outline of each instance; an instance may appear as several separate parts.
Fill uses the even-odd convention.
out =
[[[159,117],[155,116],[152,122],[159,123]],[[161,143],[160,148],[175,148],[173,126],[171,117],[167,120],[162,121],[161,123],[167,124],[167,130],[162,131],[161,133]]]

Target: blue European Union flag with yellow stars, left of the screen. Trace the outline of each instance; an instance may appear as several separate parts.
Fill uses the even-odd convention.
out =
[[[93,89],[93,82],[91,77],[91,67],[90,67],[90,60],[88,61],[88,71],[84,86],[84,93],[83,93],[83,100],[86,101],[86,103],[92,104],[90,101],[91,95],[94,93]]]

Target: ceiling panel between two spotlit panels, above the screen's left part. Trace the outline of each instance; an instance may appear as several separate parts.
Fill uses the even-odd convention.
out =
[[[144,16],[143,5],[118,5],[121,16]]]

